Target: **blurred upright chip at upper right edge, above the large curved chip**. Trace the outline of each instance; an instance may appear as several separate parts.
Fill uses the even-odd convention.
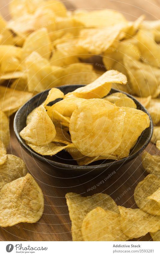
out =
[[[147,31],[138,31],[136,38],[143,59],[146,59],[149,65],[159,67],[160,47],[152,39],[152,34]]]

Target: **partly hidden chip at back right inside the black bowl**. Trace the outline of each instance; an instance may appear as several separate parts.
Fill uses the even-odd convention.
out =
[[[134,101],[124,93],[113,93],[103,98],[111,103],[114,103],[118,107],[129,107],[136,109],[137,106]]]

